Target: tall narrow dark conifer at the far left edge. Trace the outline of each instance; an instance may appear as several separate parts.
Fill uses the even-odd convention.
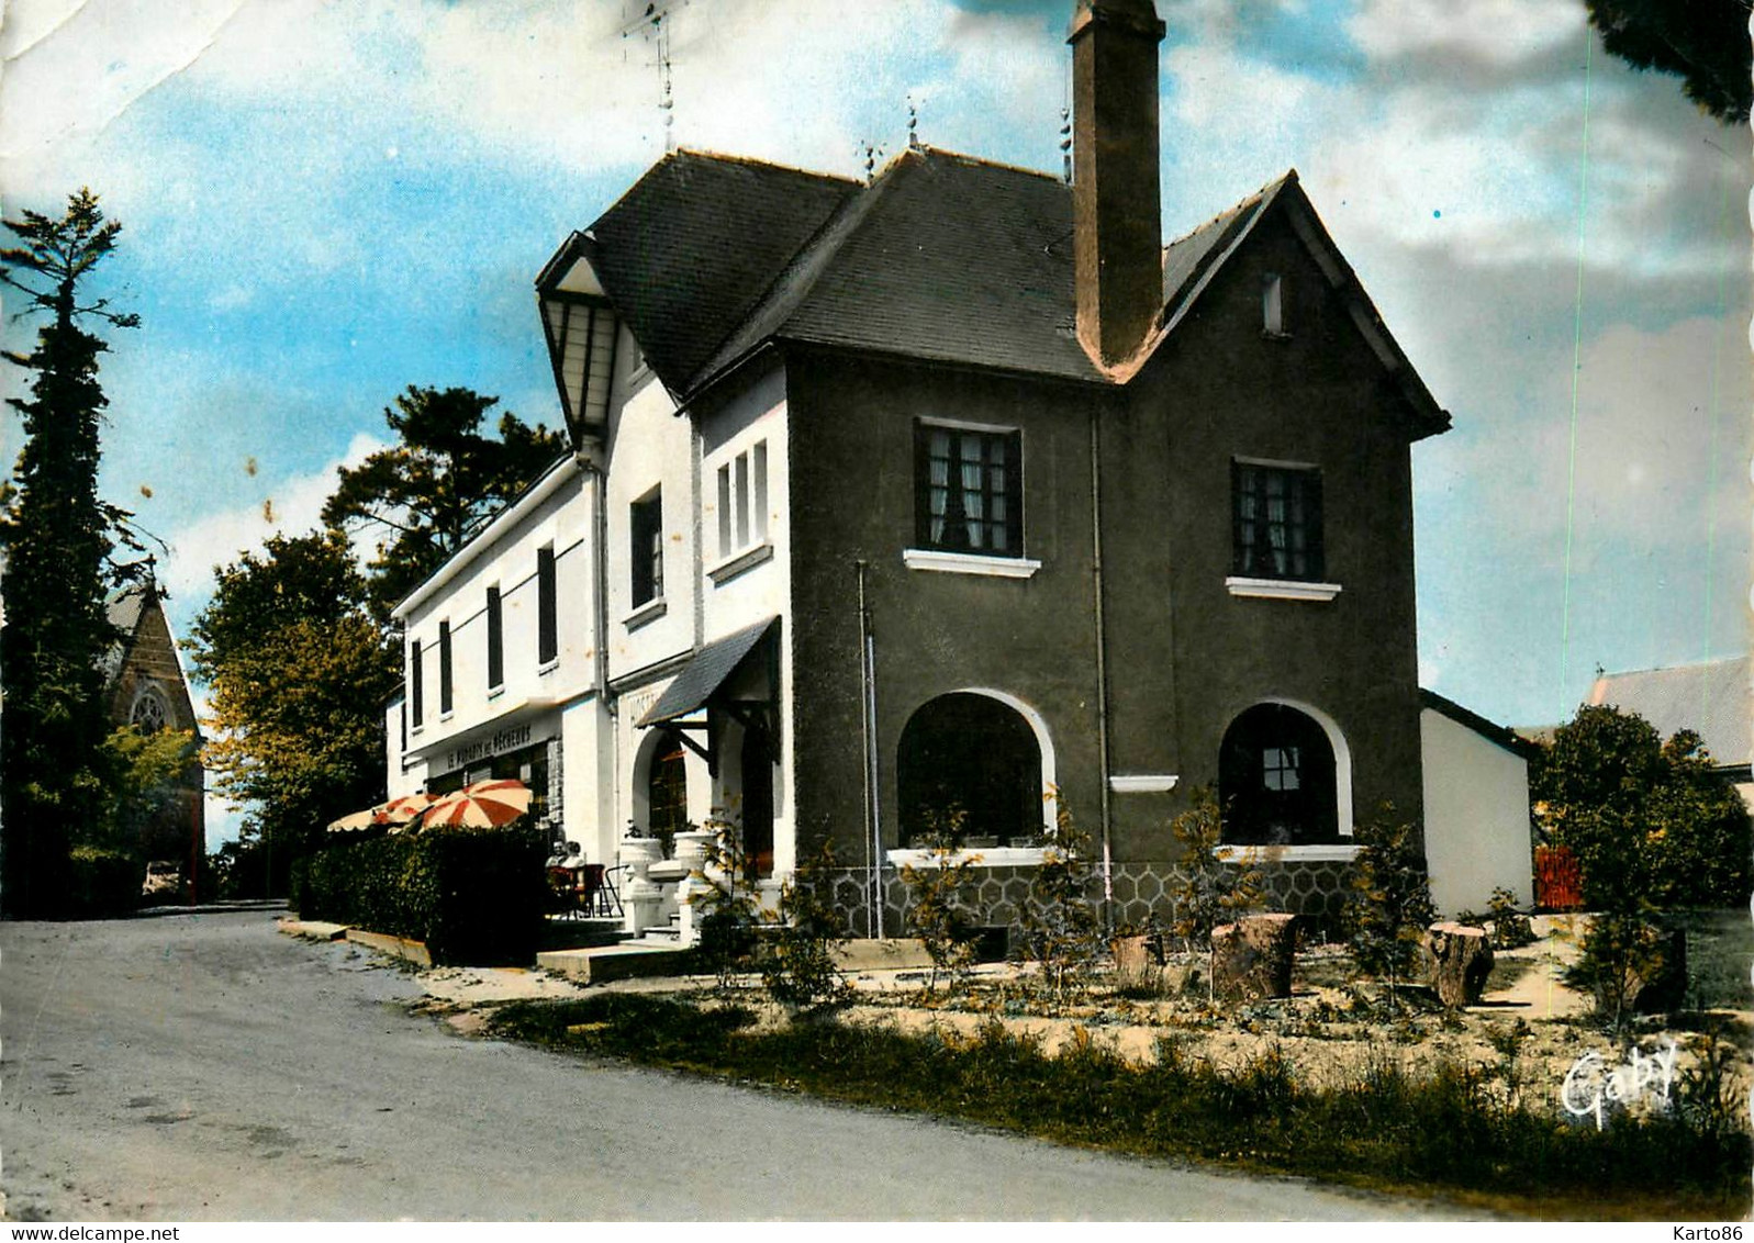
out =
[[[98,661],[112,640],[103,589],[126,514],[98,500],[107,405],[98,356],[109,347],[86,326],[133,328],[139,319],[82,293],[121,231],[89,189],[70,195],[60,219],[26,210],[4,224],[21,245],[0,249],[0,281],[25,295],[25,314],[47,316],[30,354],[5,354],[33,375],[28,398],[9,398],[25,447],[0,514],[0,901],[9,915],[33,915],[49,913],[65,892],[70,831],[103,813],[109,722]]]

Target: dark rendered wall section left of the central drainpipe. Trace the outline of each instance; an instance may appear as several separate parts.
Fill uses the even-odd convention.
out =
[[[1047,722],[1073,815],[1098,822],[1089,401],[1075,386],[875,359],[788,359],[798,824],[863,863],[858,580],[877,640],[884,840],[896,845],[896,749],[951,691],[1003,691]],[[1026,580],[909,570],[914,421],[1023,430]]]

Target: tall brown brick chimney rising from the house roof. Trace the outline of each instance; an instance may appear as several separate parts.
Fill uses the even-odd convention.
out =
[[[1079,342],[1103,365],[1131,356],[1163,307],[1161,40],[1152,0],[1079,0],[1066,37]]]

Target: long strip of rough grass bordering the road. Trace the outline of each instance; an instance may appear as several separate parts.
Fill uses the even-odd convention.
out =
[[[958,1038],[833,1019],[756,1029],[742,1006],[647,994],[514,1003],[491,1029],[551,1047],[956,1117],[1149,1157],[1198,1159],[1391,1190],[1442,1190],[1537,1217],[1740,1217],[1754,1141],[1677,1117],[1566,1122],[1505,1103],[1480,1068],[1412,1076],[1380,1059],[1344,1087],[1270,1050],[1242,1068],[1175,1041],[1137,1066],[1079,1034],[1058,1055],[1000,1022]],[[1740,1126],[1740,1122],[1738,1122]],[[1607,1201],[1619,1189],[1661,1189]]]

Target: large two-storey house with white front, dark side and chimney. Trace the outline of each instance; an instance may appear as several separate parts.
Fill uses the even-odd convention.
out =
[[[1410,445],[1449,416],[1296,174],[1161,244],[1161,37],[1079,0],[1070,184],[684,151],[568,238],[575,452],[396,610],[391,792],[521,777],[605,863],[724,808],[768,894],[830,843],[896,933],[956,810],[993,924],[1061,808],[1112,915],[1161,910],[1212,787],[1331,926],[1354,822],[1421,812]]]

